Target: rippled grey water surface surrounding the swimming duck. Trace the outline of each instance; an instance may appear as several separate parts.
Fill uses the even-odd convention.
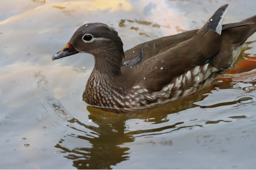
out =
[[[106,2],[0,1],[1,169],[255,169],[255,35],[212,85],[133,115],[82,101],[91,55],[51,60],[85,23],[116,28],[127,50],[198,29],[226,3],[224,23],[251,17],[255,1]]]

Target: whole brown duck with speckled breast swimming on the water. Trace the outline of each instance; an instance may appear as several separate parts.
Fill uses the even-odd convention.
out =
[[[233,64],[256,31],[256,15],[223,25],[227,7],[218,8],[200,29],[157,38],[125,52],[113,27],[87,23],[52,60],[92,54],[95,65],[83,101],[108,112],[144,112],[192,95]]]

